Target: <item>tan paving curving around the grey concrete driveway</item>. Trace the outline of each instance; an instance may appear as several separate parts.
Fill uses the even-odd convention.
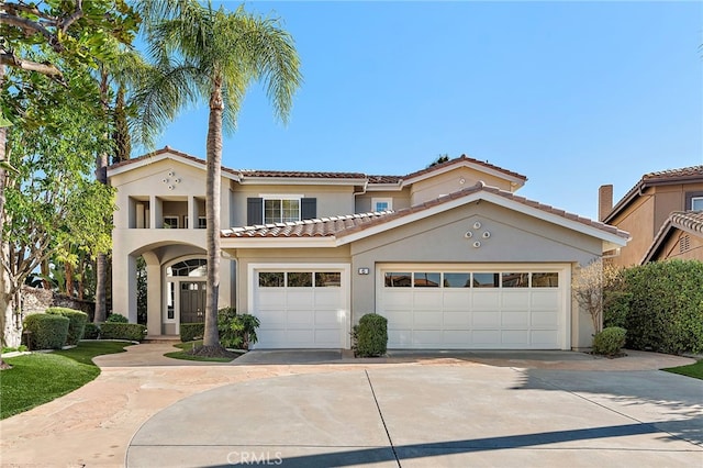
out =
[[[595,359],[558,352],[548,359],[518,353],[470,353],[461,356],[391,355],[382,359],[342,358],[325,364],[193,363],[169,359],[170,345],[131,346],[126,353],[100,356],[102,374],[92,382],[51,403],[0,422],[3,467],[78,467],[124,465],[127,446],[140,427],[160,410],[205,390],[228,383],[292,375],[324,375],[365,369],[439,367],[536,367],[543,369],[627,371],[691,364],[689,358],[629,352],[618,359]],[[260,353],[260,352],[257,352]],[[254,356],[254,354],[252,354]],[[560,357],[559,357],[560,356]],[[529,357],[527,359],[526,357]],[[555,357],[557,357],[555,359]],[[585,357],[585,359],[583,359]]]

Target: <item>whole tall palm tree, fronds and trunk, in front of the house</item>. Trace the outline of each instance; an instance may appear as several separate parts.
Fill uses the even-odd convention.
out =
[[[233,131],[244,94],[254,81],[264,81],[276,114],[283,122],[302,81],[291,35],[279,21],[202,7],[196,0],[143,0],[149,52],[157,73],[140,93],[137,137],[153,138],[186,105],[207,101],[205,215],[208,292],[203,352],[220,347],[217,293],[220,287],[220,183],[222,134]]]

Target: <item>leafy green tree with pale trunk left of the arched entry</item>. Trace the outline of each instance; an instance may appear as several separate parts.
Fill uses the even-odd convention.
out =
[[[104,213],[114,207],[112,190],[89,180],[92,161],[86,158],[110,147],[102,136],[108,124],[96,119],[98,92],[86,71],[71,71],[70,79],[82,89],[82,100],[56,92],[63,86],[45,78],[40,79],[43,85],[34,83],[36,96],[15,96],[27,101],[25,112],[41,112],[42,118],[13,126],[8,141],[16,174],[4,192],[0,310],[11,345],[18,344],[22,330],[18,294],[29,275],[52,256],[74,266],[76,252],[94,255],[111,244]],[[44,101],[47,96],[56,97],[54,105]]]

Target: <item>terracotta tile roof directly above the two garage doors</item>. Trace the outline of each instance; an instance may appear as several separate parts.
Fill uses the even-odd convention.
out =
[[[364,214],[350,214],[347,216],[333,216],[321,220],[305,220],[294,223],[280,223],[268,224],[259,226],[245,226],[235,227],[232,230],[223,231],[224,237],[324,237],[324,236],[345,236],[352,233],[367,230],[371,226],[377,226],[390,221],[408,216],[413,213],[419,213],[428,210],[433,207],[440,205],[451,200],[461,199],[472,193],[489,192],[507,200],[513,200],[517,203],[526,207],[535,208],[546,213],[556,214],[563,219],[576,221],[583,225],[595,227],[610,234],[617,235],[618,237],[629,238],[629,234],[625,231],[621,231],[615,226],[611,226],[598,221],[592,221],[587,218],[579,216],[577,214],[568,213],[563,210],[556,209],[554,207],[543,204],[533,200],[528,200],[524,197],[517,197],[512,192],[501,190],[495,187],[486,186],[482,182],[472,187],[467,187],[457,192],[453,192],[437,199],[420,203],[410,208],[405,208],[398,211],[384,211],[379,213],[364,213]]]

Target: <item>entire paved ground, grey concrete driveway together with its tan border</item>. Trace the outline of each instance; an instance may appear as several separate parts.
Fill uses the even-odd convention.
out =
[[[703,386],[654,370],[688,358],[208,365],[164,358],[169,345],[127,349],[97,358],[102,374],[81,389],[0,422],[2,466],[703,464]]]

